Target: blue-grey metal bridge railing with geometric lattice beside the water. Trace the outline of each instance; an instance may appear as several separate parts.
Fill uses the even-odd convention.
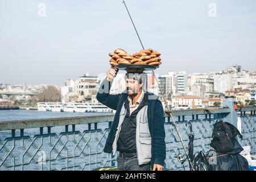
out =
[[[240,108],[242,146],[250,145],[256,154],[256,107]],[[188,146],[188,121],[195,133],[194,151],[207,152],[213,123],[228,121],[229,108],[171,111],[177,121],[181,137]],[[0,122],[0,170],[92,170],[115,166],[116,156],[103,149],[114,115],[36,119]],[[188,169],[181,165],[177,154],[183,154],[179,138],[170,117],[165,114],[167,170]]]

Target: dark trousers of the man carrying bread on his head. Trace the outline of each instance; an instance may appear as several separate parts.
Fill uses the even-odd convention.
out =
[[[151,171],[150,163],[139,165],[137,155],[123,157],[118,156],[117,171]]]

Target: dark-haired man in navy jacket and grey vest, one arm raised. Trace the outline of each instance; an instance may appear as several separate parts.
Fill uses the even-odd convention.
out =
[[[117,110],[104,152],[119,151],[117,170],[162,171],[166,159],[162,103],[143,89],[145,73],[126,73],[125,92],[109,94],[117,72],[109,69],[97,93],[98,101]]]

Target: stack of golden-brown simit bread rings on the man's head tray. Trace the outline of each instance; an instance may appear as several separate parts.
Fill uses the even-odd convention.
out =
[[[153,49],[143,49],[139,52],[129,55],[123,49],[115,49],[114,53],[109,53],[112,57],[109,62],[113,67],[117,67],[118,64],[147,64],[147,65],[159,65],[161,54]]]

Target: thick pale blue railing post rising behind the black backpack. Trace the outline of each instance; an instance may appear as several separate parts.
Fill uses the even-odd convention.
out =
[[[223,121],[229,122],[237,127],[237,111],[234,110],[234,97],[225,97],[222,107],[229,107],[230,113],[223,118]]]

